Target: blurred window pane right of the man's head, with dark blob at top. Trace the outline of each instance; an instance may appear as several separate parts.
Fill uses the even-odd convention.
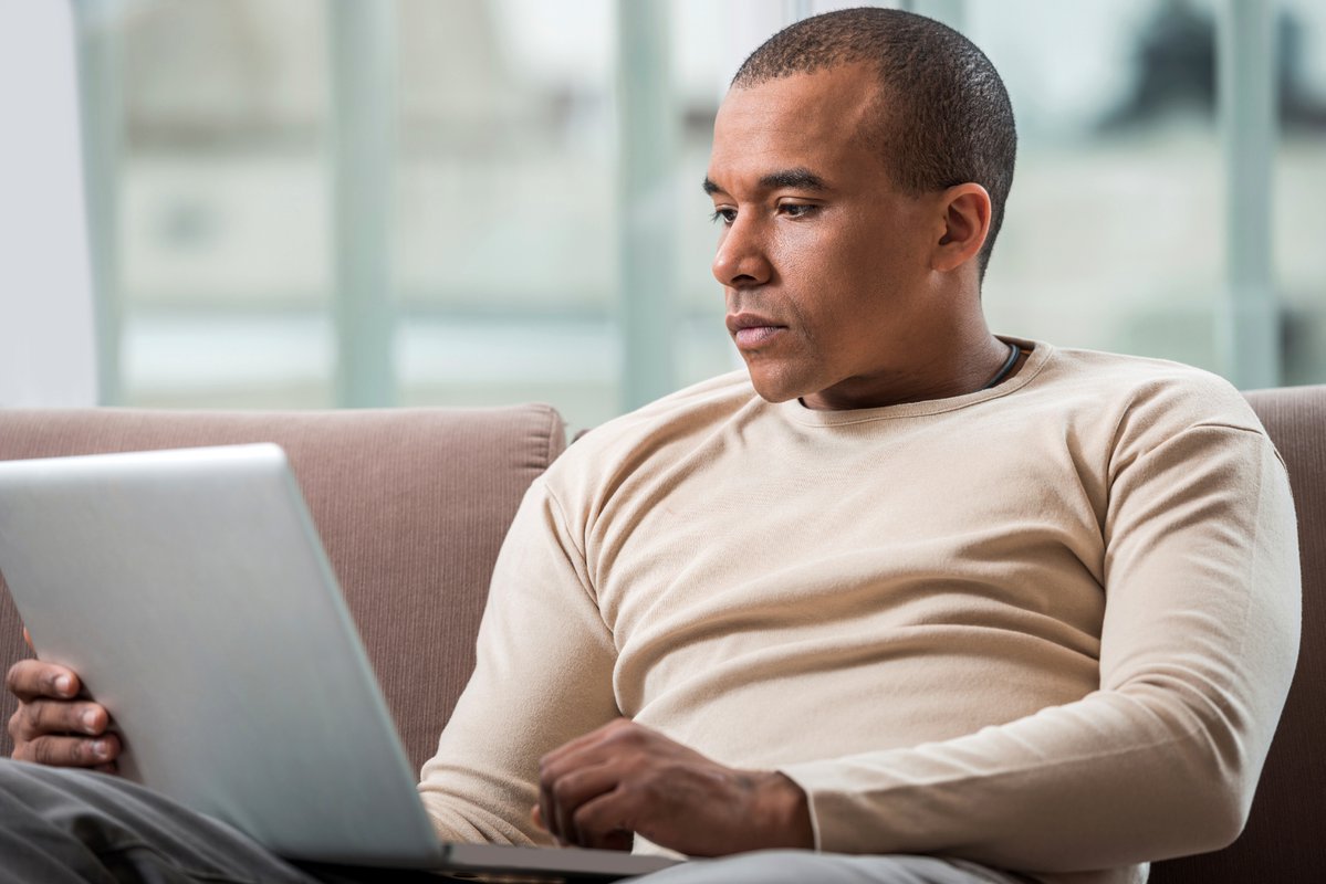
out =
[[[1217,370],[1223,156],[1209,3],[969,3],[1018,170],[985,284],[996,331]]]

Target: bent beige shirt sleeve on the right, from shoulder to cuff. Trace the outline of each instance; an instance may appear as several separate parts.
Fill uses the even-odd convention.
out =
[[[1103,525],[1099,689],[955,740],[782,769],[818,848],[1074,872],[1241,831],[1298,649],[1288,477],[1258,431],[1122,449]]]

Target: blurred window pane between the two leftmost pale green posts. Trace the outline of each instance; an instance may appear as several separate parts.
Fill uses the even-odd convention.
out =
[[[324,12],[121,5],[126,404],[332,404]]]

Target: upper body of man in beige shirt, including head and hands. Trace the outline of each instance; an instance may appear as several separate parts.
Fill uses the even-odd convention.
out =
[[[1014,142],[989,61],[918,16],[743,65],[704,188],[749,376],[530,488],[423,771],[439,832],[935,884],[1140,881],[1237,835],[1297,645],[1284,468],[1219,379],[988,331]],[[11,687],[17,755],[113,761],[69,736],[105,725],[74,673]]]

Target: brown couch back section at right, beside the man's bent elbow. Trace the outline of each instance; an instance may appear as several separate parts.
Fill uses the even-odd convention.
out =
[[[1326,881],[1326,386],[1248,400],[1289,468],[1303,570],[1298,669],[1244,834],[1215,854],[1158,863],[1151,884]]]

